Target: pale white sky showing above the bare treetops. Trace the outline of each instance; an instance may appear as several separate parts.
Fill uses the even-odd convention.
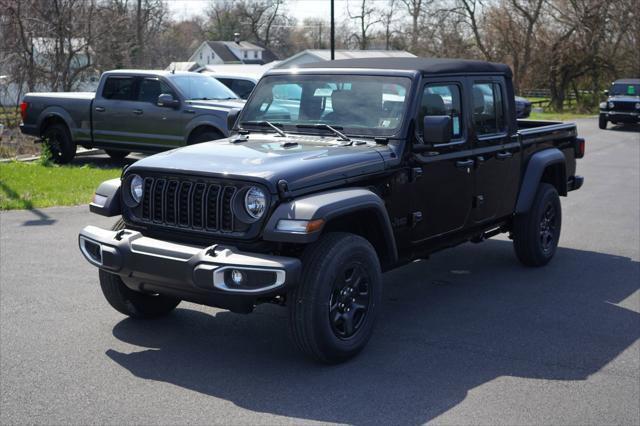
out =
[[[204,15],[204,11],[212,0],[166,0],[166,2],[176,19],[185,19]],[[354,0],[351,2],[355,7]],[[329,0],[288,0],[287,10],[299,23],[309,17],[323,17],[328,21],[330,19],[330,4]],[[336,22],[347,17],[346,0],[336,0],[335,8]]]

